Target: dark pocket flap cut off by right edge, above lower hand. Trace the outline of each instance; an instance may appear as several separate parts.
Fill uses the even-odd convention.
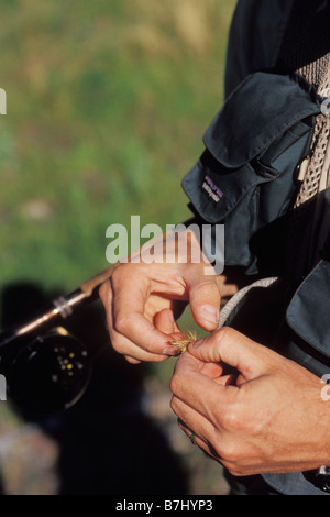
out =
[[[330,263],[320,261],[295,293],[286,311],[289,327],[330,358]]]

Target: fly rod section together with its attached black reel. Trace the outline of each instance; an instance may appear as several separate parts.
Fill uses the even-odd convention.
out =
[[[0,374],[7,381],[8,398],[23,411],[58,413],[73,406],[85,393],[92,360],[87,348],[62,327],[62,321],[81,305],[95,300],[99,286],[118,265],[0,334]]]

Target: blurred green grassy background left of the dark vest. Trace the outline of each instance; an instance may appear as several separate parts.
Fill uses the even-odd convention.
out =
[[[108,266],[109,224],[190,215],[180,180],[222,103],[234,6],[0,0],[0,289],[69,293]]]

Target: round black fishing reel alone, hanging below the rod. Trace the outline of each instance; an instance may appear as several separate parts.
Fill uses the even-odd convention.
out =
[[[13,343],[12,343],[13,344]],[[2,352],[2,351],[1,351]],[[85,393],[91,362],[85,345],[58,327],[1,355],[8,397],[23,411],[54,414]]]

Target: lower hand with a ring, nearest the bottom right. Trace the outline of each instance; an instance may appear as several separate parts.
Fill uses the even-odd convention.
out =
[[[224,374],[224,364],[234,374]],[[182,429],[233,475],[330,464],[330,406],[320,380],[233,329],[191,343],[170,388]]]

